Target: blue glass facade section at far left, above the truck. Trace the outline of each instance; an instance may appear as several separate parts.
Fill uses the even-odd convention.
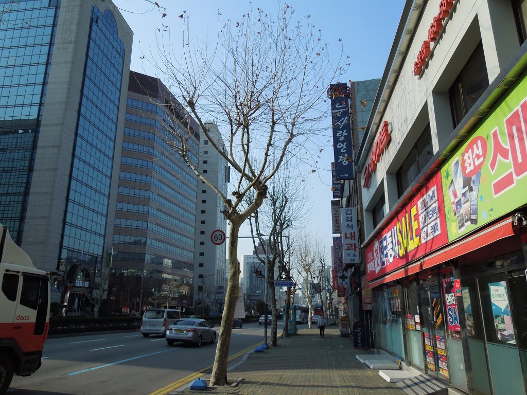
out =
[[[20,244],[60,1],[0,3],[0,222]]]

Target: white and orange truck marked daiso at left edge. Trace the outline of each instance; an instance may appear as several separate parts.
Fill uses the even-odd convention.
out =
[[[50,276],[0,224],[0,395],[13,374],[30,376],[40,368],[50,328]]]

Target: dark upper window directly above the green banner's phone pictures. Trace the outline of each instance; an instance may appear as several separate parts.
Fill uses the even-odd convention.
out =
[[[461,123],[487,87],[489,87],[489,75],[487,75],[483,44],[480,42],[448,90],[454,127]]]

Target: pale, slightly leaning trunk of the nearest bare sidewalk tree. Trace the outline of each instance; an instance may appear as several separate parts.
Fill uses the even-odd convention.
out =
[[[227,363],[229,358],[230,338],[232,332],[232,320],[238,299],[240,284],[240,261],[238,260],[238,234],[240,223],[230,220],[229,229],[229,279],[225,295],[225,307],[221,315],[221,327],[214,356],[214,366],[210,378],[211,386],[227,385]]]

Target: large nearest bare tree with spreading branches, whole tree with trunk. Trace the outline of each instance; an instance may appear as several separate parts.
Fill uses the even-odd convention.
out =
[[[233,190],[224,195],[209,182],[197,163],[192,133],[169,127],[173,151],[193,170],[200,181],[216,192],[225,204],[229,221],[229,279],[219,331],[211,385],[227,384],[227,359],[236,300],[240,263],[240,226],[268,197],[268,182],[287,157],[295,157],[315,134],[326,130],[326,87],[343,67],[333,67],[327,46],[310,15],[295,22],[294,9],[278,9],[276,17],[261,8],[229,19],[219,29],[216,45],[197,43],[188,29],[188,15],[181,15],[183,40],[174,50],[168,39],[160,42],[158,67],[164,83],[177,93],[198,122],[210,149],[231,167]],[[172,105],[170,105],[172,107]],[[168,113],[171,113],[169,108]],[[206,127],[212,118],[225,127],[226,145],[212,138]],[[327,122],[327,121],[326,121]],[[172,120],[179,125],[179,120]],[[190,121],[189,121],[190,124]],[[254,199],[243,206],[253,191]]]

